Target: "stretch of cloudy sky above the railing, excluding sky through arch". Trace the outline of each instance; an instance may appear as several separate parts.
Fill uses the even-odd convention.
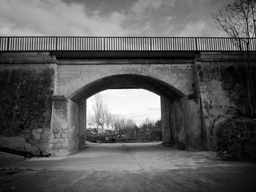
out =
[[[0,36],[205,37],[214,33],[206,30],[214,1],[197,1],[133,0],[110,11],[108,1],[0,0]]]

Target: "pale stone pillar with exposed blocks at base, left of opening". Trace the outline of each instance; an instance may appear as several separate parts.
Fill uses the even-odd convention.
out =
[[[49,149],[52,155],[67,155],[78,150],[78,104],[64,96],[54,96]]]

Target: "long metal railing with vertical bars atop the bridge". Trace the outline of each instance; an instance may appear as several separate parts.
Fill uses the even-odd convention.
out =
[[[256,51],[256,39],[225,37],[0,37],[1,52]]]

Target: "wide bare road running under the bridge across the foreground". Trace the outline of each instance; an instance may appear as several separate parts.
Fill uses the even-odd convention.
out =
[[[0,163],[0,191],[256,191],[256,164],[160,143],[91,145],[64,158]]]

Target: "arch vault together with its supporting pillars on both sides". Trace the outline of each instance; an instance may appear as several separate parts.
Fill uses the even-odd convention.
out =
[[[114,74],[84,83],[69,96],[53,101],[53,131],[62,129],[71,133],[67,150],[86,145],[86,99],[100,91],[122,88],[142,88],[160,96],[163,145],[203,148],[199,139],[202,137],[199,98],[147,75]],[[63,119],[65,123],[61,125]],[[53,148],[51,153],[58,154],[58,150]]]

